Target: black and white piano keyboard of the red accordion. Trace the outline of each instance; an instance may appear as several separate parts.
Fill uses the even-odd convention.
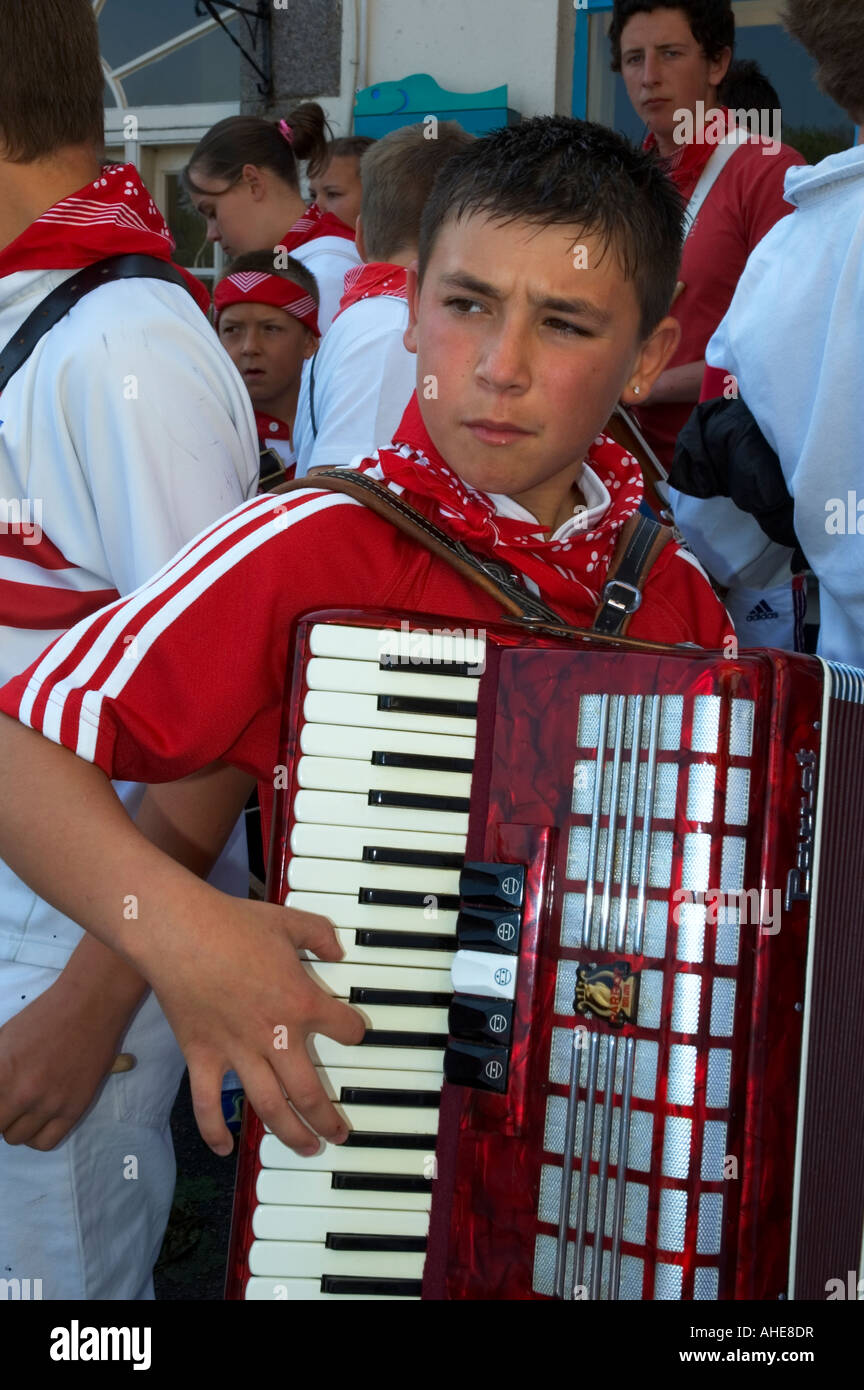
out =
[[[419,1298],[483,641],[321,624],[310,651],[285,902],[333,922],[343,959],[307,969],[367,1034],[310,1040],[346,1144],[261,1138],[244,1297]]]

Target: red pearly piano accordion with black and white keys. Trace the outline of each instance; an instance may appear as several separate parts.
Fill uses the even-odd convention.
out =
[[[254,1115],[228,1297],[822,1298],[864,1215],[864,674],[326,613],[268,898],[368,1020]],[[442,1076],[446,1081],[442,1088]]]

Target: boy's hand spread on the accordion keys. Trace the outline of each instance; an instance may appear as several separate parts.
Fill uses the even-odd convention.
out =
[[[210,920],[200,922],[197,949],[150,956],[146,974],[189,1063],[194,1116],[217,1154],[232,1138],[222,1119],[225,1072],[238,1072],[261,1120],[299,1154],[311,1155],[321,1136],[347,1138],[347,1126],[328,1098],[306,1049],[310,1033],[357,1044],[361,1015],[326,994],[304,970],[299,949],[321,960],[342,959],[326,917],[208,890]],[[142,956],[143,960],[143,956]],[[289,1104],[290,1102],[290,1104]]]

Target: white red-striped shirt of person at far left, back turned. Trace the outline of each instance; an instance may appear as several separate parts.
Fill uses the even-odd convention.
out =
[[[1,278],[0,343],[71,274]],[[138,588],[257,475],[249,395],[192,296],[154,279],[86,295],[0,396],[0,680],[69,627],[76,603],[92,609],[88,594]],[[39,520],[29,537],[14,507]],[[131,812],[143,794],[117,791]],[[0,959],[63,969],[81,934],[0,863]]]

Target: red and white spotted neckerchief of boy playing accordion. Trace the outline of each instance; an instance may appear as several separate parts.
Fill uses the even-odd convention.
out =
[[[572,603],[572,585],[599,602],[606,571],[624,523],[639,510],[645,495],[639,464],[608,435],[599,435],[585,459],[592,500],[581,524],[578,512],[549,537],[546,527],[501,516],[483,493],[463,482],[442,459],[424,424],[417,393],[411,396],[393,443],[357,464],[408,500],[442,530],[472,550],[503,560],[533,580],[550,602]],[[588,482],[588,480],[586,480]],[[586,495],[589,488],[586,486]],[[590,525],[590,530],[586,530]]]

